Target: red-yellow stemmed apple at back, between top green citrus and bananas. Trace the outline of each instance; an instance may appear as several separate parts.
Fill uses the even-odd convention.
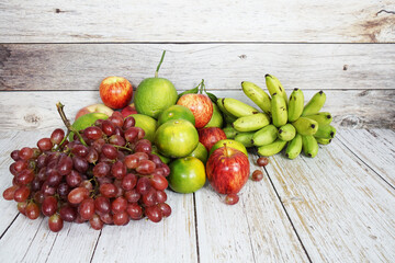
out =
[[[203,128],[210,122],[214,111],[212,101],[204,94],[184,94],[177,101],[177,104],[191,110],[195,117],[196,128]]]

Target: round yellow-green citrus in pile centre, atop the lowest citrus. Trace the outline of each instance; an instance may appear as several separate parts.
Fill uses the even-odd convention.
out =
[[[190,155],[198,146],[198,130],[185,119],[172,119],[159,126],[155,133],[155,145],[160,153],[170,158]]]

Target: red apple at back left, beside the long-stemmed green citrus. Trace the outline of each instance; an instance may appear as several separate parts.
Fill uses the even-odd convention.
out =
[[[104,105],[114,110],[127,106],[133,96],[131,82],[122,77],[108,77],[103,79],[99,91]]]

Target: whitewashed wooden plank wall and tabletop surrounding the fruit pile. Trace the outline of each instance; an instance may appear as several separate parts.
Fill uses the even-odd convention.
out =
[[[0,262],[395,262],[394,1],[0,1],[0,188],[10,152],[100,103],[99,83],[205,79],[239,99],[273,73],[305,98],[324,90],[338,129],[316,158],[270,158],[235,206],[210,185],[167,191],[169,218],[97,231],[29,220],[0,198]],[[251,170],[258,156],[250,149]]]

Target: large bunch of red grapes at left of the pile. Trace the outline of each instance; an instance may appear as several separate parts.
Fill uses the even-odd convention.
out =
[[[42,211],[55,232],[64,221],[89,221],[93,229],[144,217],[158,222],[171,214],[165,203],[170,169],[144,136],[133,116],[124,119],[120,112],[98,119],[71,141],[55,129],[37,148],[11,152],[12,186],[3,197],[18,202],[30,219]]]

